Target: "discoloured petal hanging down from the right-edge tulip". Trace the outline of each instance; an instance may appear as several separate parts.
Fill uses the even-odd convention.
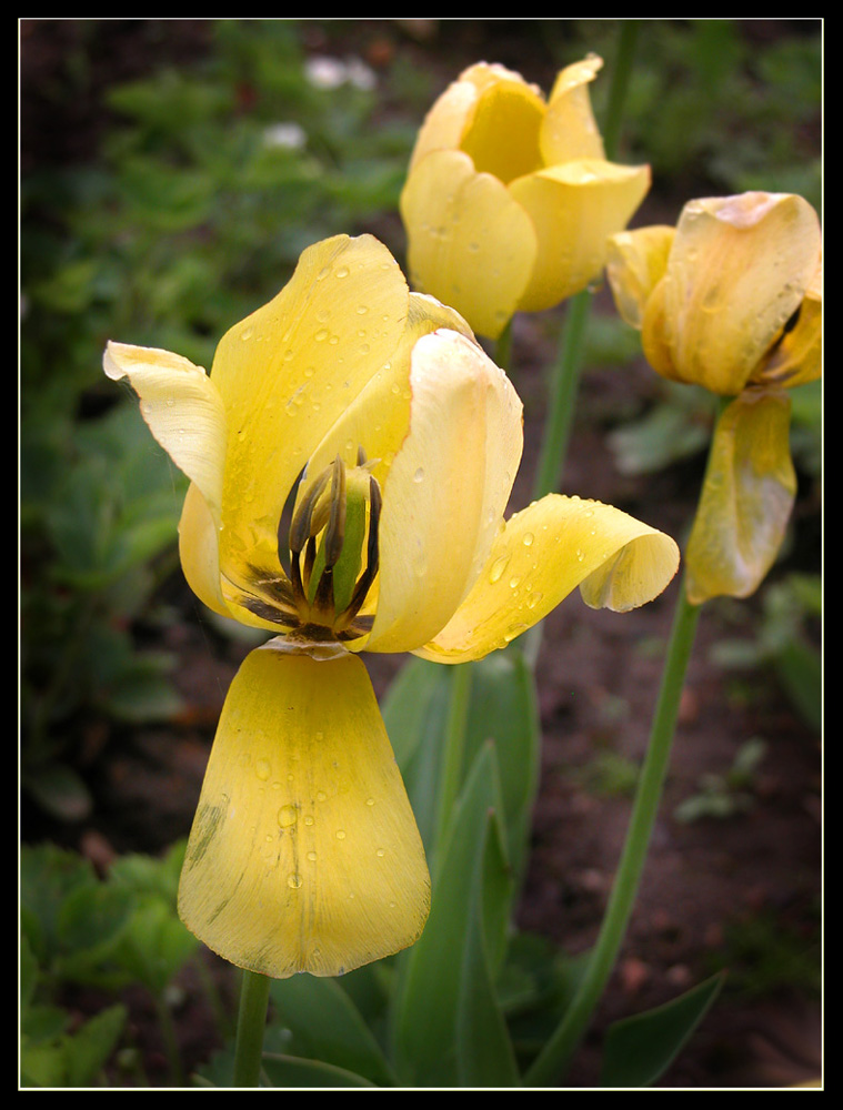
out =
[[[717,422],[685,555],[688,597],[747,597],[773,565],[796,492],[790,398],[746,390]]]

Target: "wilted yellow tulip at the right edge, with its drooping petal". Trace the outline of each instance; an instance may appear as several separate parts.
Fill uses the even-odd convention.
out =
[[[752,594],[796,492],[785,390],[822,372],[822,233],[801,196],[750,192],[685,205],[676,228],[610,240],[621,315],[651,366],[734,398],[712,444],[685,566],[693,604]]]

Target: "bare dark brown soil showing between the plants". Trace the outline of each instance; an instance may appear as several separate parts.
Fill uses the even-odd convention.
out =
[[[50,64],[60,63],[68,41],[80,33],[76,21],[48,30],[23,28],[27,67],[40,64],[49,72]],[[165,44],[178,59],[201,50],[204,39],[201,21],[168,22],[163,30],[158,21],[117,21],[108,33],[114,48],[113,72],[104,68],[103,82],[137,70],[139,52],[131,48],[139,41],[144,46],[140,57],[149,63],[155,44]],[[465,43],[476,33],[468,24],[462,28],[460,44],[469,58],[472,52],[474,58],[488,53],[488,42]],[[502,60],[515,64],[514,59]],[[455,71],[462,58],[445,63]],[[543,79],[542,73],[531,77]],[[26,127],[44,113],[38,113],[31,87],[24,88],[29,90],[22,112]],[[96,97],[87,110],[76,104],[78,118],[58,129],[71,157],[90,152],[94,144],[101,125],[98,104]],[[28,149],[31,143],[30,134]],[[545,336],[553,335],[554,326],[549,314],[541,321],[519,322],[515,334],[528,443],[542,413],[541,366],[549,354]],[[589,413],[604,413],[615,404],[620,406],[615,411],[623,412],[635,398],[641,404],[652,391],[652,376],[643,363],[623,380],[616,372],[586,367],[581,397],[585,418],[572,443],[564,488],[641,515],[679,538],[692,512],[702,458],[646,480],[623,476],[612,465],[600,420],[588,418]],[[519,506],[529,500],[532,464],[528,451],[514,497]],[[819,567],[816,513],[809,508],[805,516],[806,543],[794,548],[791,562],[776,568],[776,576],[791,568]],[[538,666],[543,773],[519,925],[571,953],[585,950],[595,937],[630,810],[628,793],[599,788],[591,774],[595,757],[642,757],[661,673],[658,645],[666,640],[676,588],[674,583],[655,603],[623,616],[589,610],[571,597],[546,620]],[[178,685],[185,713],[170,728],[113,730],[106,736],[103,728],[110,726],[92,726],[84,768],[96,798],[91,818],[72,829],[42,824],[33,828],[24,820],[24,835],[52,834],[107,866],[114,852],[155,852],[187,834],[215,719],[245,648],[214,636],[179,582],[168,591],[183,616],[164,646],[180,659]],[[744,612],[755,614],[757,605],[746,603]],[[600,1037],[610,1021],[663,1002],[724,965],[732,968],[732,983],[660,1086],[780,1087],[819,1074],[821,1010],[815,993],[789,977],[786,967],[770,976],[765,986],[752,989],[751,976],[762,965],[764,950],[745,953],[730,944],[734,930],[745,935],[753,922],[766,922],[776,936],[795,938],[792,944],[802,955],[817,951],[819,960],[821,894],[819,739],[794,714],[771,675],[755,673],[749,689],[739,689],[734,676],[712,663],[712,645],[734,635],[731,613],[729,605],[712,604],[702,615],[641,896],[616,972],[571,1077],[573,1086],[595,1082]],[[741,635],[751,637],[752,626]],[[380,693],[402,660],[369,657],[368,662]],[[675,807],[699,790],[702,776],[727,770],[739,747],[756,736],[767,749],[752,784],[750,808],[725,819],[679,823]],[[208,962],[229,991],[227,969],[211,957]],[[217,1041],[210,1016],[199,1002],[203,996],[190,979],[182,986],[178,1018],[189,1035],[182,1047],[191,1066],[205,1059]],[[96,1005],[83,996],[78,1001],[81,1012]],[[130,1001],[133,1032],[147,1052],[154,1082],[158,1073],[163,1074],[163,1068],[160,1072],[157,1068],[163,1059],[154,1015],[145,999]]]

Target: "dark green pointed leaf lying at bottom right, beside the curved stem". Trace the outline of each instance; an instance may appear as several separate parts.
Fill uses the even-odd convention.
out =
[[[673,1062],[723,986],[713,976],[664,1006],[615,1022],[606,1035],[601,1087],[650,1087]]]

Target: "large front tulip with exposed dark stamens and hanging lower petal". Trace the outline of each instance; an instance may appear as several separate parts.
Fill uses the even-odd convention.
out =
[[[410,293],[371,236],[307,250],[233,326],[210,375],[109,343],[190,478],[185,577],[273,638],[225,699],[180,882],[210,948],[283,978],[411,945],[424,850],[358,653],[478,659],[580,585],[626,609],[676,569],[671,538],[552,496],[504,523],[522,411],[465,322]],[[283,524],[282,524],[283,522]]]

